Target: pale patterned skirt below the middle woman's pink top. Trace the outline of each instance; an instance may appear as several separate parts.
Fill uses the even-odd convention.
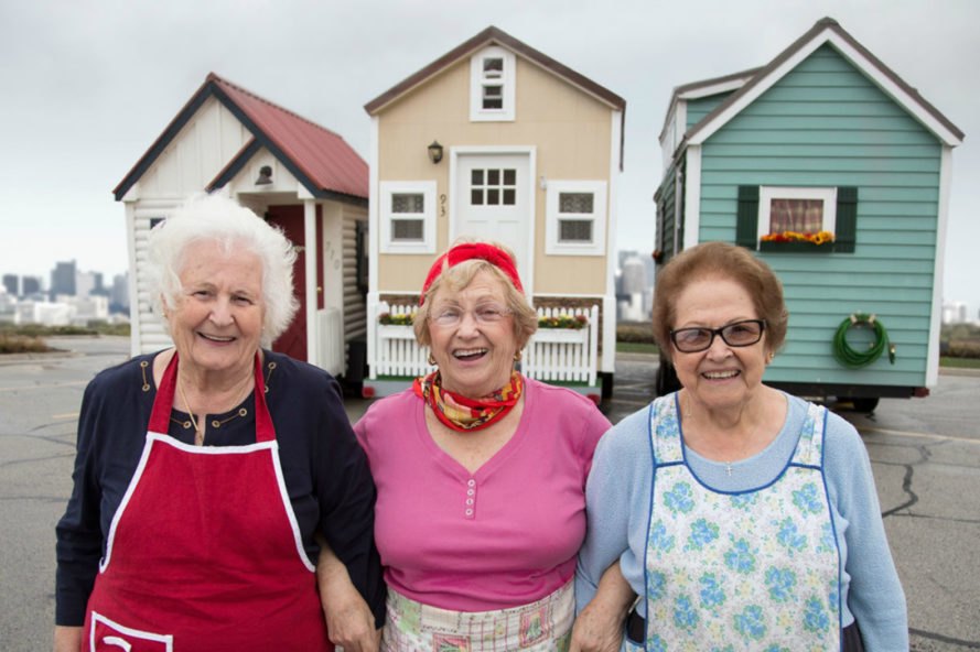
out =
[[[388,589],[381,652],[566,652],[575,618],[572,583],[529,605],[451,611]]]

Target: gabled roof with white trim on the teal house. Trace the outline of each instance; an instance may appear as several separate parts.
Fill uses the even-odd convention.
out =
[[[950,122],[936,107],[930,105],[918,91],[906,84],[898,75],[874,56],[868,48],[858,43],[840,24],[832,18],[825,18],[817,23],[803,36],[797,39],[789,47],[784,50],[769,62],[766,66],[736,73],[726,77],[718,77],[696,84],[678,86],[670,98],[670,107],[686,97],[702,97],[696,95],[699,89],[707,89],[712,86],[721,86],[724,83],[731,83],[732,87],[740,85],[741,88],[730,95],[713,111],[704,116],[700,122],[694,124],[683,138],[680,148],[687,144],[700,144],[711,137],[715,131],[723,127],[729,120],[734,118],[745,107],[755,101],[763,93],[768,90],[801,61],[814,53],[818,47],[830,44],[842,56],[858,67],[874,84],[876,84],[889,97],[901,105],[916,120],[918,120],[926,129],[931,131],[937,139],[941,140],[949,146],[956,146],[962,142],[963,133],[952,122]],[[729,88],[730,89],[730,88]],[[719,89],[719,91],[724,88]],[[672,111],[668,110],[669,119]]]

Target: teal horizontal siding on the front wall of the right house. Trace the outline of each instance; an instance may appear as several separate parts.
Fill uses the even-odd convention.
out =
[[[735,240],[740,185],[858,188],[853,253],[760,254],[790,313],[767,381],[926,384],[940,157],[941,143],[829,45],[704,142],[699,241]],[[851,313],[877,315],[894,365],[837,365],[832,339]]]

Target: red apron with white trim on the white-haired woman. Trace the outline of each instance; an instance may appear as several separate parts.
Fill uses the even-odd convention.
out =
[[[191,446],[165,433],[177,356],[112,519],[83,651],[332,651],[282,478],[256,357],[256,443]]]

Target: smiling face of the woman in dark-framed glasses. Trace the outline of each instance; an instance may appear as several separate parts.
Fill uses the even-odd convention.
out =
[[[692,281],[675,301],[672,329],[721,328],[757,319],[749,292],[731,279],[709,276]],[[672,346],[672,345],[671,345]],[[694,401],[707,410],[741,409],[758,393],[766,367],[766,335],[746,347],[731,347],[715,335],[707,350],[685,354],[674,347],[677,378]]]

